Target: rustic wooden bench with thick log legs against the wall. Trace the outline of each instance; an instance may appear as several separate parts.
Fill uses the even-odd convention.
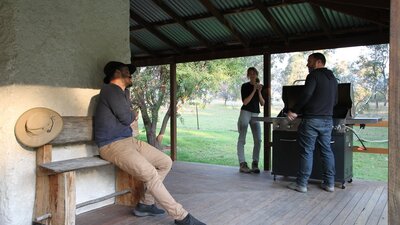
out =
[[[76,204],[76,171],[110,165],[99,156],[52,162],[52,147],[93,144],[92,117],[63,117],[60,135],[36,152],[36,196],[33,224],[75,224],[76,209],[115,197],[115,204],[134,206],[143,193],[143,183],[115,167],[116,192]]]

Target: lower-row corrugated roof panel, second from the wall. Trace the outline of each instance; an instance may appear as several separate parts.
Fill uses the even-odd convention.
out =
[[[190,32],[179,24],[169,24],[159,27],[159,30],[180,47],[199,45],[200,42]],[[176,35],[179,34],[179,35]]]

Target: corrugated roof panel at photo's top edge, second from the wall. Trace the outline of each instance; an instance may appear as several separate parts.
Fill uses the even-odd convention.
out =
[[[207,13],[207,9],[198,0],[164,0],[164,3],[181,17]]]

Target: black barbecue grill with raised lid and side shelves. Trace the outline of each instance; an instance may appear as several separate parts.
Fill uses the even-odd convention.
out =
[[[293,121],[286,118],[286,112],[299,100],[304,85],[282,87],[284,108],[278,117],[253,117],[253,120],[270,122],[272,131],[272,174],[274,180],[277,175],[288,177],[297,176],[299,168],[299,154],[297,130],[301,122],[301,115]],[[353,118],[353,93],[350,83],[338,84],[338,103],[333,110],[333,127],[331,147],[335,156],[335,182],[340,182],[345,188],[346,182],[353,178],[353,134],[349,128],[354,124],[377,123],[381,118]],[[314,151],[313,170],[310,179],[322,180],[322,164],[318,145]]]

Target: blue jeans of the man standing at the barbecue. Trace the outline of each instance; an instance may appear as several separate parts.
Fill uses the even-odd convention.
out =
[[[307,186],[313,167],[313,154],[318,145],[323,165],[323,180],[326,185],[335,182],[335,156],[331,148],[332,119],[303,119],[298,130],[300,168],[297,184]]]

